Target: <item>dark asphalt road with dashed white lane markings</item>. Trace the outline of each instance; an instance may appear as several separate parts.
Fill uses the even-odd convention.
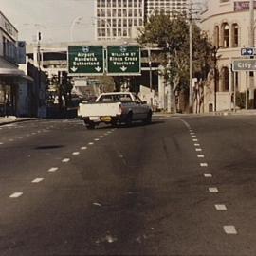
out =
[[[0,255],[256,255],[256,118],[0,126]]]

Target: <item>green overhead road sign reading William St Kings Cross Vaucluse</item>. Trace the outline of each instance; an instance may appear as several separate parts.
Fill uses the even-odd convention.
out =
[[[110,76],[140,76],[139,46],[107,46],[107,74]]]

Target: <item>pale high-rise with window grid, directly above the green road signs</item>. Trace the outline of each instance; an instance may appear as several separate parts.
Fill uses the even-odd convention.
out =
[[[144,24],[145,1],[96,0],[96,39],[135,38],[137,27]]]

